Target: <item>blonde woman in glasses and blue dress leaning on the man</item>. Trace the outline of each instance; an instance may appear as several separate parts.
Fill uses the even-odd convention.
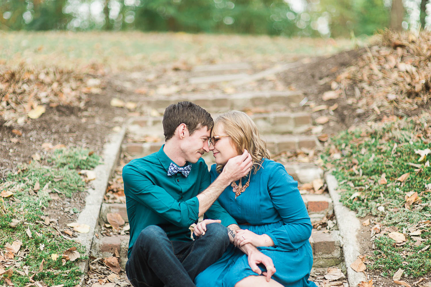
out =
[[[197,287],[315,287],[308,281],[313,262],[308,241],[312,225],[298,184],[282,164],[269,159],[256,124],[243,112],[229,111],[215,119],[210,141],[216,163],[211,167],[211,181],[244,149],[252,155],[250,174],[232,182],[218,200],[242,228],[234,243],[256,246],[271,257],[276,272],[267,282],[251,270],[247,255],[231,244],[221,259],[197,276]],[[196,235],[200,235],[198,229]],[[265,267],[261,269],[265,273]]]

